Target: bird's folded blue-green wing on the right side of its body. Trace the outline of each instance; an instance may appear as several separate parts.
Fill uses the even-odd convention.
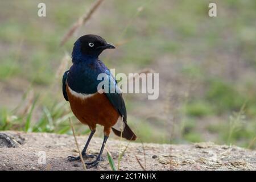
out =
[[[127,119],[126,107],[125,107],[125,101],[123,101],[121,89],[118,87],[117,81],[111,75],[109,70],[107,69],[105,72],[109,78],[109,92],[105,92],[105,94],[108,97],[109,101],[114,106],[114,108],[123,117],[123,121],[126,122],[126,119]]]

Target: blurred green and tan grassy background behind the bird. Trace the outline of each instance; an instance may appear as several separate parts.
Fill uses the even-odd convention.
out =
[[[46,17],[38,3],[46,3]],[[124,94],[138,142],[212,141],[256,147],[256,1],[105,0],[64,46],[94,1],[0,2],[0,130],[88,134],[61,78],[81,35],[118,46],[100,59],[118,73],[159,73],[159,98]],[[97,128],[102,137],[102,127]],[[112,134],[114,137],[114,135]]]

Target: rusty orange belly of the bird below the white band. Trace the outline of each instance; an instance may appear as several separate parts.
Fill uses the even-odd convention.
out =
[[[82,99],[72,94],[72,90],[66,85],[68,100],[71,110],[79,119],[90,127],[96,129],[96,124],[110,128],[118,120],[119,113],[106,97],[106,94],[95,93],[90,97]]]

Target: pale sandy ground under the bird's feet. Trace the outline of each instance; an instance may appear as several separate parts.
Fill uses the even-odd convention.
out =
[[[77,137],[80,150],[87,138]],[[94,137],[88,153],[98,154],[101,143],[101,138]],[[115,166],[118,164],[119,149],[125,150],[127,145],[120,170],[256,170],[256,151],[237,146],[220,146],[211,142],[142,144],[110,138],[106,148],[112,154]],[[46,154],[45,161],[43,154]],[[70,155],[78,155],[71,135],[17,131],[0,134],[0,170],[84,170],[81,161],[68,162],[67,156]],[[106,150],[103,157],[105,160],[98,168],[88,170],[111,170]],[[92,160],[85,159],[86,162]]]

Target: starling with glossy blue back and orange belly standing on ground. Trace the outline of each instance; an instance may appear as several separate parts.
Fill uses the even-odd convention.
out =
[[[102,158],[102,152],[111,130],[119,137],[127,140],[136,140],[137,136],[127,125],[127,112],[122,92],[117,85],[108,67],[99,60],[98,56],[105,49],[114,49],[112,44],[106,42],[101,36],[88,34],[76,40],[72,51],[72,65],[64,72],[62,79],[63,96],[69,102],[75,117],[89,126],[90,135],[82,150],[82,158],[94,158],[88,162],[86,168],[97,167]],[[105,74],[114,92],[106,92],[107,87],[98,90],[99,74]],[[112,86],[111,86],[112,85]],[[119,90],[118,90],[119,89]],[[102,90],[104,92],[102,93]],[[100,92],[101,91],[101,92]],[[109,90],[107,90],[109,91]],[[86,150],[92,139],[96,126],[104,126],[104,140],[98,155],[89,155]],[[80,156],[68,156],[68,161],[80,160]]]

